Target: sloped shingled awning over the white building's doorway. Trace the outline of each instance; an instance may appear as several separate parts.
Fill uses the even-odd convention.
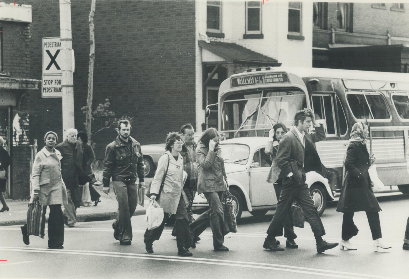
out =
[[[274,58],[235,43],[199,41],[199,47],[202,47],[202,62],[206,64],[281,65]]]

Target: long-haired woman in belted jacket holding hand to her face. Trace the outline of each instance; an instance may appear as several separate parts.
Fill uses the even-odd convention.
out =
[[[209,210],[200,215],[190,229],[193,239],[197,240],[200,234],[209,226],[213,232],[213,247],[215,251],[227,252],[229,248],[223,245],[225,222],[223,216],[222,197],[227,191],[225,165],[219,146],[219,133],[215,128],[205,130],[198,147],[198,194],[203,193],[209,202]],[[193,241],[195,244],[196,241]]]

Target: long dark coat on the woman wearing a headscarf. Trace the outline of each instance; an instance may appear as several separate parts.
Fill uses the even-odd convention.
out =
[[[344,162],[346,175],[337,205],[339,212],[382,210],[371,189],[369,178],[369,153],[366,144],[351,142]]]

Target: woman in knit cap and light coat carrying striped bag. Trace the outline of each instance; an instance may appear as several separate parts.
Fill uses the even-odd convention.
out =
[[[47,132],[44,136],[45,146],[36,154],[31,173],[31,199],[37,200],[40,205],[48,205],[48,248],[63,249],[64,218],[61,205],[67,204],[67,189],[61,176],[62,158],[60,151],[54,147],[58,136],[54,132]],[[29,244],[27,224],[21,227],[23,241]]]

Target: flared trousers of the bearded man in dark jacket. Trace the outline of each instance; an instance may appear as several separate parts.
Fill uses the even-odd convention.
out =
[[[132,224],[130,218],[137,206],[138,185],[133,182],[112,181],[118,201],[118,215],[113,223],[115,235],[119,241],[132,240]]]

